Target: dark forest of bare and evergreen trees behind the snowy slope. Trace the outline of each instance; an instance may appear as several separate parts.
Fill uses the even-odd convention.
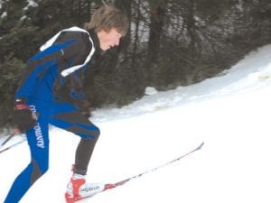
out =
[[[146,87],[163,91],[223,74],[271,42],[269,0],[0,0],[0,128],[13,126],[27,59],[61,29],[83,27],[104,3],[127,14],[130,30],[85,72],[93,109],[125,106]]]

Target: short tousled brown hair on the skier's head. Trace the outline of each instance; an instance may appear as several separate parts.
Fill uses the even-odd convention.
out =
[[[92,14],[90,22],[85,23],[84,28],[86,30],[93,29],[95,32],[102,29],[109,32],[114,28],[124,36],[129,28],[129,20],[126,14],[114,5],[103,5]]]

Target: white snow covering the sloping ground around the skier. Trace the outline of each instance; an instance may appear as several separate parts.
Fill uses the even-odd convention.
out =
[[[123,180],[205,144],[180,161],[81,202],[271,202],[270,52],[266,45],[216,78],[95,111],[91,121],[102,134],[89,163],[89,182]],[[50,139],[50,171],[22,203],[64,202],[79,138],[51,127]],[[27,143],[0,154],[0,202],[28,161]]]

